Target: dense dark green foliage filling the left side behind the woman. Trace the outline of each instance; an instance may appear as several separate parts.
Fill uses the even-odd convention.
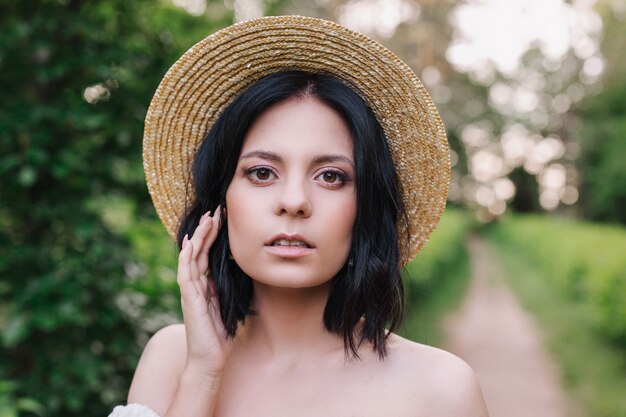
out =
[[[174,250],[145,249],[143,117],[215,23],[148,0],[41,0],[2,1],[0,27],[0,415],[106,415],[162,307],[146,300],[172,293],[146,278]]]

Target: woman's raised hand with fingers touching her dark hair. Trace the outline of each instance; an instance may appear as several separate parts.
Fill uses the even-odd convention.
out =
[[[219,301],[209,270],[209,250],[220,228],[220,208],[205,213],[191,239],[185,235],[178,258],[178,285],[181,293],[187,338],[186,373],[219,378],[232,351],[232,339],[225,337]]]

